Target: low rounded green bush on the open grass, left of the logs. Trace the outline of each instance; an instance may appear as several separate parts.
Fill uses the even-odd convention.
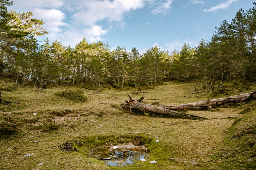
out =
[[[69,100],[74,100],[74,102],[86,102],[87,98],[83,95],[84,91],[82,89],[69,89],[54,93],[59,97],[64,97]]]

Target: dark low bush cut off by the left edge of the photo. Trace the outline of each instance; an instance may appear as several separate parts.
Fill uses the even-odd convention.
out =
[[[17,132],[18,128],[15,124],[9,122],[0,123],[0,138],[8,138]]]

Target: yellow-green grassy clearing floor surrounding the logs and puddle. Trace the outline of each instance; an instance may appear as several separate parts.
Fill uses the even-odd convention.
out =
[[[17,133],[0,139],[0,169],[3,170],[101,170],[101,169],[254,169],[256,165],[256,102],[222,106],[213,110],[183,110],[207,119],[184,119],[119,110],[120,103],[144,97],[143,102],[164,105],[185,104],[255,91],[256,84],[224,82],[226,91],[194,92],[198,82],[175,83],[143,89],[101,88],[99,93],[78,87],[17,88],[1,91],[0,122],[13,125]],[[156,90],[158,87],[158,90]],[[77,89],[87,100],[69,100],[55,95],[63,89]],[[197,86],[203,91],[202,84]],[[228,92],[227,92],[228,91]],[[216,92],[216,90],[215,90]],[[124,117],[132,116],[130,119]],[[223,119],[222,119],[223,118]],[[184,122],[186,121],[186,122]],[[183,122],[169,124],[168,122]],[[191,126],[192,125],[192,126]],[[11,127],[10,127],[11,128]],[[128,166],[107,166],[90,158],[90,148],[127,143],[139,136],[148,147],[146,161]],[[97,138],[97,139],[95,139]],[[159,142],[155,142],[159,140]],[[35,142],[37,141],[37,142]],[[78,145],[75,141],[84,143]],[[60,149],[72,142],[74,152]],[[26,154],[33,154],[24,157]],[[157,161],[150,164],[151,160]],[[43,163],[42,165],[38,165]]]

